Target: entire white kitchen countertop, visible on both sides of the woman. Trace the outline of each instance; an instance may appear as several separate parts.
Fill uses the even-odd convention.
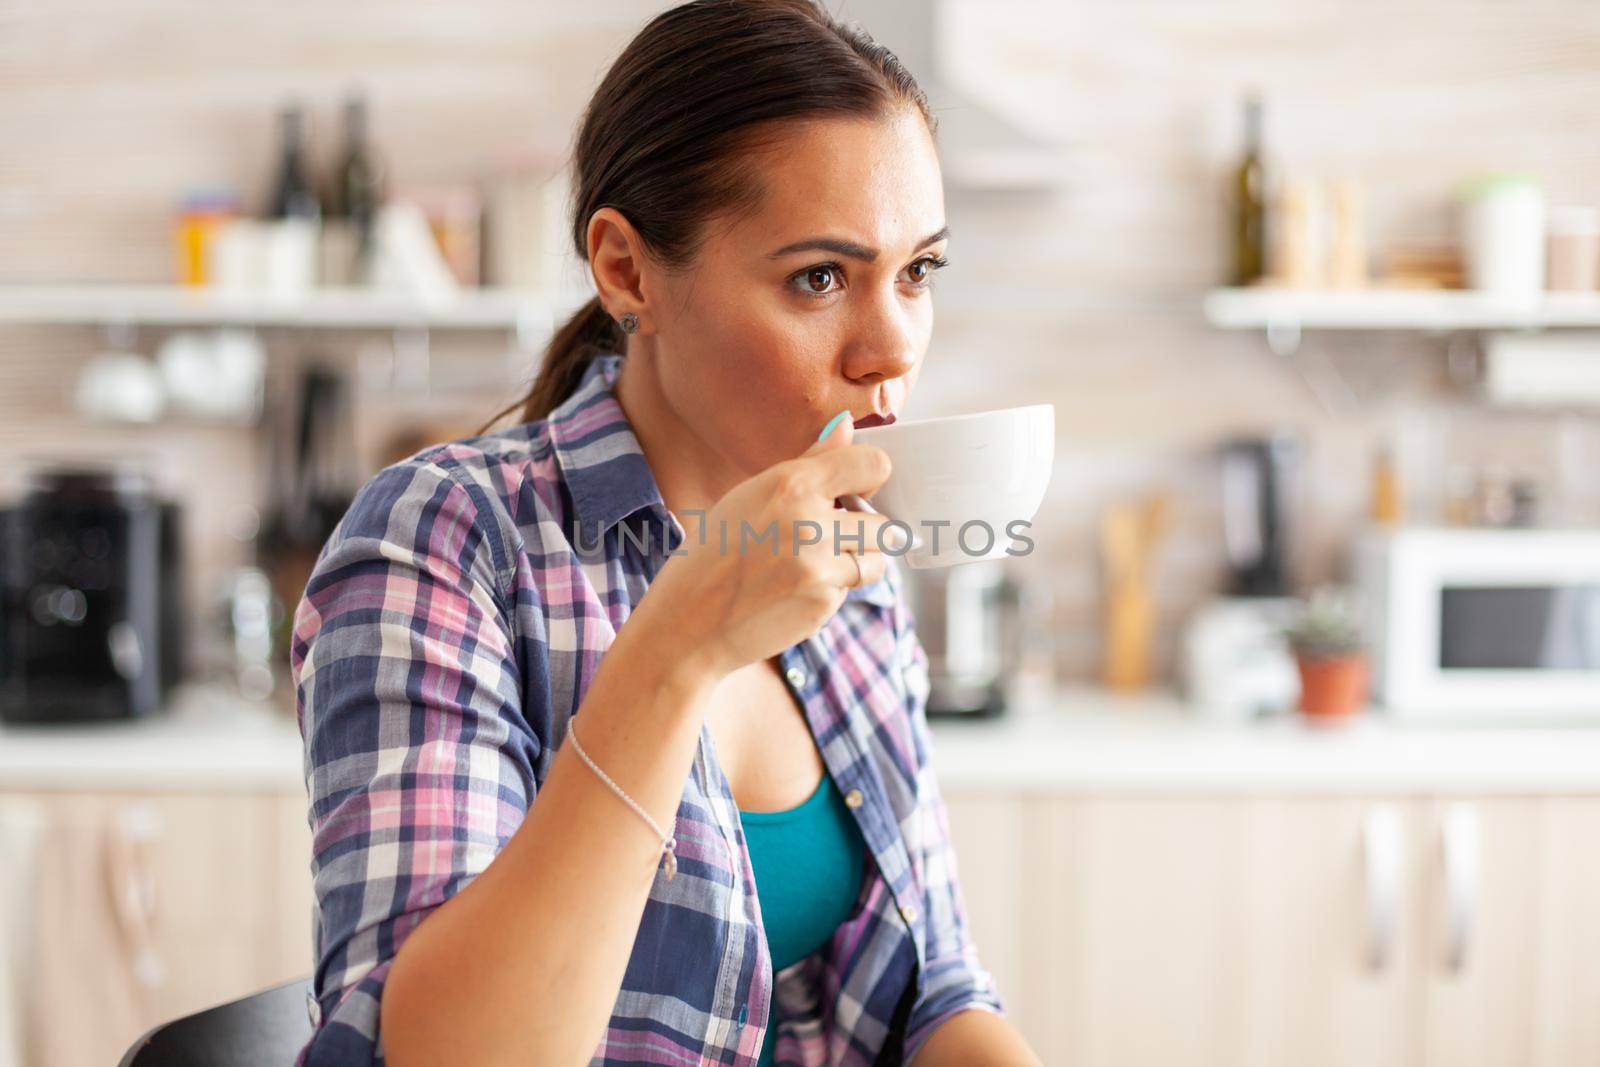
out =
[[[1222,725],[1176,694],[1022,694],[995,721],[933,720],[946,792],[1600,793],[1600,726],[1403,726],[1365,715]],[[181,691],[134,723],[0,728],[0,790],[302,790],[293,715]]]

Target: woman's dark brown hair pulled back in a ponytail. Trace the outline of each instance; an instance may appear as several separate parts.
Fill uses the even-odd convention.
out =
[[[584,110],[573,154],[573,243],[614,208],[669,269],[691,262],[712,219],[754,211],[754,155],[784,120],[878,118],[899,102],[936,130],[910,72],[864,30],[814,0],[693,0],[658,14],[627,45]],[[592,298],[555,331],[520,402],[526,422],[573,394],[602,352],[626,352]],[[498,421],[498,419],[496,419]]]

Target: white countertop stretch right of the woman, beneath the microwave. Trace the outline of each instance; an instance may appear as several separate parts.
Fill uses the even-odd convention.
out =
[[[1170,691],[1058,686],[992,723],[934,720],[933,733],[946,792],[1600,793],[1600,723],[1219,723]]]

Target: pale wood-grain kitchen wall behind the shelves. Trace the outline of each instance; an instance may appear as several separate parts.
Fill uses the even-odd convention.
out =
[[[325,168],[342,91],[366,86],[400,186],[472,179],[509,149],[565,144],[603,66],[659,6],[0,0],[0,283],[168,280],[186,186],[264,198],[286,94],[310,106]],[[1245,86],[1266,91],[1275,176],[1366,182],[1374,254],[1450,238],[1453,189],[1482,170],[1536,171],[1555,202],[1600,203],[1600,8],[960,0],[944,37],[949,77],[1066,154],[1053,195],[949,194],[954,266],[912,414],[1056,403],[1056,478],[1038,555],[1018,573],[1056,593],[1064,677],[1088,677],[1099,649],[1099,509],[1152,488],[1178,499],[1160,558],[1170,665],[1182,614],[1221,576],[1211,450],[1227,434],[1306,435],[1302,581],[1338,573],[1384,440],[1403,446],[1421,507],[1437,504],[1446,459],[1498,458],[1566,494],[1552,506],[1600,520],[1600,480],[1581,474],[1600,469],[1595,419],[1483,410],[1451,382],[1442,339],[1310,336],[1283,358],[1198,315],[1226,270],[1222,189]],[[158,341],[136,338],[144,350]],[[307,347],[267,341],[286,360]],[[154,454],[186,490],[203,585],[242,553],[229,530],[261,490],[256,442],[82,424],[69,389],[104,342],[96,330],[0,328],[0,448]],[[437,358],[448,350],[435,339]],[[5,464],[0,491],[19,469]]]

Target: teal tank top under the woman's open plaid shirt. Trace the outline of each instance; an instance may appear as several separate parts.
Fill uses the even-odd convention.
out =
[[[827,944],[850,918],[861,889],[866,841],[827,771],[798,806],[739,811],[739,821],[755,869],[773,971],[781,971]],[[760,1067],[774,1062],[774,1009],[776,997],[768,1005]]]

